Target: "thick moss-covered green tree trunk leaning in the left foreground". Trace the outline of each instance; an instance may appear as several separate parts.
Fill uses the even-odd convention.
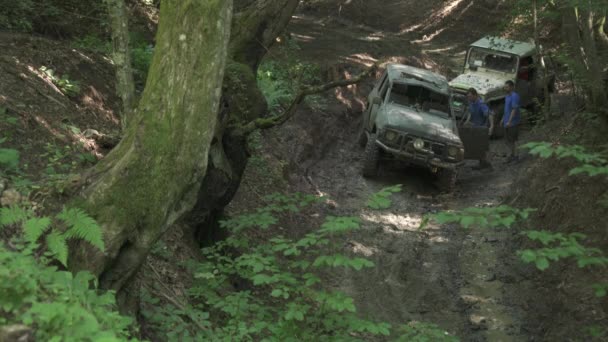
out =
[[[121,290],[152,245],[197,201],[216,129],[231,0],[164,0],[139,107],[93,170],[82,205],[104,230],[104,254],[75,248],[75,269]],[[97,177],[97,178],[96,178]]]

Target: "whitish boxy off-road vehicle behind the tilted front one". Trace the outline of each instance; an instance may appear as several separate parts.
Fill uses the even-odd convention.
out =
[[[520,95],[522,107],[533,106],[535,99],[542,103],[543,75],[536,59],[536,47],[531,43],[484,37],[471,44],[462,74],[450,81],[450,89],[454,95],[452,107],[457,119],[465,116],[467,90],[475,88],[496,113],[495,122],[500,122],[506,96],[503,87],[507,80],[515,83],[515,91]],[[547,82],[549,91],[552,92],[554,76],[548,77]],[[500,131],[496,130],[497,133]]]

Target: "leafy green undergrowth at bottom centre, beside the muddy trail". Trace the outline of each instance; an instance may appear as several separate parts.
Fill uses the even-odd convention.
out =
[[[385,189],[379,197],[394,190]],[[189,265],[194,275],[189,304],[158,305],[161,294],[146,290],[144,300],[153,305],[144,311],[147,320],[169,341],[368,341],[389,336],[454,341],[430,324],[412,322],[395,329],[363,319],[353,298],[323,285],[323,272],[374,267],[366,258],[336,252],[344,235],[359,229],[358,217],[328,216],[318,229],[295,238],[268,236],[266,230],[280,224],[281,215],[320,200],[272,195],[270,205],[223,221],[230,237],[203,249],[203,262]]]

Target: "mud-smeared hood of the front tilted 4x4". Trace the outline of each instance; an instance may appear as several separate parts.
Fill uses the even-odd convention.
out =
[[[461,145],[454,121],[413,108],[388,104],[377,117],[380,129],[391,127],[412,135],[449,144]]]

